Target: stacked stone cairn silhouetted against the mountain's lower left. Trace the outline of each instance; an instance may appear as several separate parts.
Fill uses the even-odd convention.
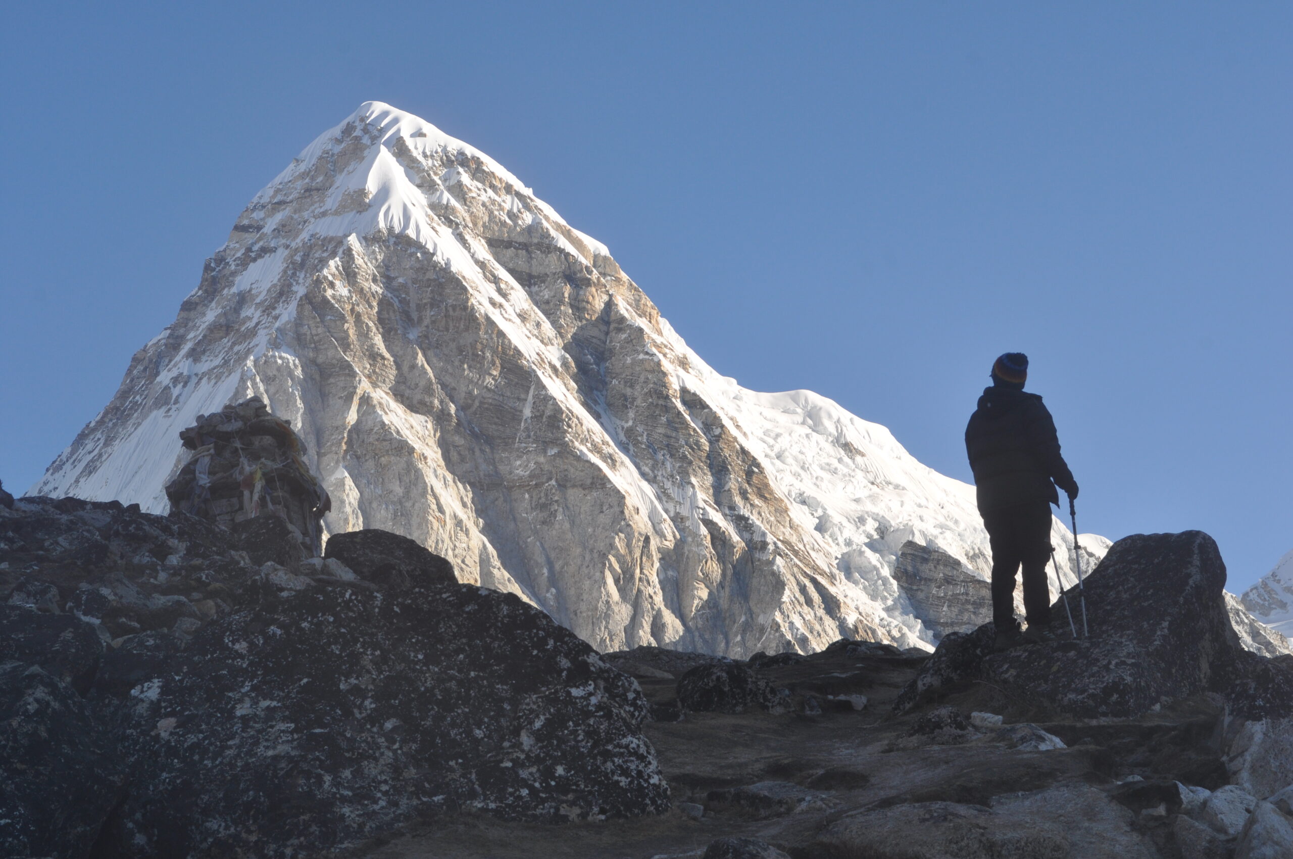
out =
[[[167,484],[172,511],[233,528],[256,516],[291,525],[306,558],[322,551],[323,514],[332,499],[305,464],[305,444],[259,397],[198,415],[180,432],[193,458]]]

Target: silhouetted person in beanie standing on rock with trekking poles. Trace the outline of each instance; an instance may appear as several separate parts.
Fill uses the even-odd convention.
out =
[[[1053,640],[1050,589],[1051,505],[1059,486],[1077,498],[1077,481],[1059,453],[1055,422],[1036,393],[1024,393],[1028,356],[1007,352],[992,365],[992,387],[966,427],[966,453],[979,512],[992,545],[992,621],[997,646]],[[1015,573],[1024,567],[1028,631],[1015,620]]]

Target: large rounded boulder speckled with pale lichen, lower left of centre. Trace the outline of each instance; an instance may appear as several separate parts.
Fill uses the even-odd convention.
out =
[[[341,849],[415,818],[668,807],[637,684],[543,612],[468,585],[319,583],[225,616],[132,692],[102,859]]]

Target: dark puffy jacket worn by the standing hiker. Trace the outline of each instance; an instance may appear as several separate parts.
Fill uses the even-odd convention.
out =
[[[979,510],[1031,501],[1059,505],[1055,486],[1069,494],[1077,490],[1073,472],[1059,454],[1055,420],[1036,393],[987,388],[966,427],[966,453]]]

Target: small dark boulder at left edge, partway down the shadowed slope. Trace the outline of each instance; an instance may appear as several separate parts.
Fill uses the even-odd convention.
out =
[[[84,695],[103,658],[91,624],[27,605],[0,605],[0,662],[39,665]]]

